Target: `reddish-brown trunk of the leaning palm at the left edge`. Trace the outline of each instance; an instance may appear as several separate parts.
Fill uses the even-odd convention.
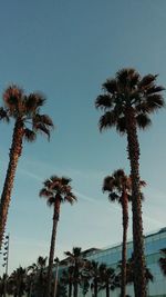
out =
[[[2,245],[4,228],[7,224],[8,209],[11,199],[11,191],[13,187],[14,176],[17,171],[17,165],[19,157],[22,152],[22,139],[23,139],[23,126],[22,121],[17,120],[13,136],[12,136],[12,145],[9,154],[9,166],[6,175],[6,180],[3,185],[3,190],[0,200],[0,248]]]

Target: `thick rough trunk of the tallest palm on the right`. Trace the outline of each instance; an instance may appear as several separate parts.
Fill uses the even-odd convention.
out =
[[[134,247],[134,290],[135,297],[146,297],[145,256],[143,240],[142,201],[139,192],[139,143],[133,108],[126,110],[128,159],[132,175],[133,247]]]

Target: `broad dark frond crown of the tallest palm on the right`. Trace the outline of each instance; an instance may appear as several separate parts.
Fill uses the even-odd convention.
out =
[[[114,79],[103,83],[104,95],[96,98],[95,106],[104,110],[100,119],[100,129],[116,127],[121,133],[126,132],[126,109],[132,108],[136,123],[144,129],[151,125],[149,113],[164,106],[160,91],[162,86],[156,86],[157,76],[141,77],[132,68],[117,71]]]

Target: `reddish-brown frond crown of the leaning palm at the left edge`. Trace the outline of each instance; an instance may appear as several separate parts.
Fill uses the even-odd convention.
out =
[[[19,121],[28,141],[34,141],[38,131],[50,138],[50,127],[53,127],[53,122],[48,115],[40,113],[44,101],[44,97],[39,92],[27,96],[18,86],[9,86],[3,93],[4,107],[0,108],[0,119],[9,121],[13,118]]]

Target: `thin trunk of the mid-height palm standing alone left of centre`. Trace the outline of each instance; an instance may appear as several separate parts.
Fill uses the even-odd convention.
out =
[[[56,228],[58,228],[58,222],[59,222],[59,216],[60,216],[60,200],[56,199],[56,201],[54,204],[53,226],[52,226],[50,256],[49,256],[46,297],[51,296],[52,268],[53,268],[53,258],[54,258],[55,238],[56,238]]]

